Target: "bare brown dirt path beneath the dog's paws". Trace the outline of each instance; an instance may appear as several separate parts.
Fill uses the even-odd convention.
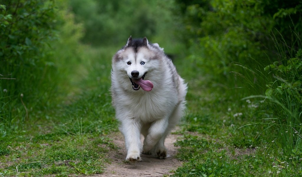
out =
[[[174,142],[178,135],[170,134],[165,140],[165,146],[168,149],[169,156],[166,159],[153,158],[151,155],[141,155],[142,162],[127,164],[124,162],[126,157],[124,137],[119,133],[112,137],[113,143],[120,147],[118,153],[110,154],[113,159],[112,164],[106,168],[106,172],[94,176],[145,176],[155,177],[170,175],[171,170],[177,169],[182,163],[175,159],[177,147],[174,147]]]

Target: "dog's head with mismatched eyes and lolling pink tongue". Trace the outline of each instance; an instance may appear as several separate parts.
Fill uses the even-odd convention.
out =
[[[133,90],[141,87],[145,91],[151,91],[153,83],[148,76],[161,65],[162,55],[163,49],[157,43],[149,43],[146,37],[132,39],[130,36],[127,44],[113,56],[112,67],[121,73],[127,72]]]

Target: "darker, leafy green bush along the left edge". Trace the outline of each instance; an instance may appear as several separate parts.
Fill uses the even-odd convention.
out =
[[[45,106],[54,91],[48,46],[55,39],[55,14],[52,1],[0,4],[0,122],[10,124],[18,114],[25,117],[24,109]]]

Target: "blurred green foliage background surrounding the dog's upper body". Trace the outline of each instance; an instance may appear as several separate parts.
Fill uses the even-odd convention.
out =
[[[302,131],[301,8],[300,0],[0,0],[0,142],[49,119],[64,122],[65,105],[76,104],[77,114],[97,106],[90,118],[116,124],[111,57],[132,35],[159,43],[188,82],[184,122],[203,122],[207,106],[243,112],[232,120],[260,124],[243,137],[275,132],[288,159],[302,152],[293,136]],[[210,105],[201,92],[216,95]],[[233,144],[260,141],[269,140]]]

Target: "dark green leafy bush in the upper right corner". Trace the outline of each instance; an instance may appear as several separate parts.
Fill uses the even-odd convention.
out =
[[[205,73],[228,87],[240,86],[230,71],[241,69],[232,62],[258,68],[259,63],[269,64],[267,55],[276,57],[274,42],[270,40],[273,29],[286,36],[287,42],[291,40],[289,27],[301,29],[298,1],[177,2],[186,24],[186,31],[181,32],[186,33],[190,55],[198,60],[196,63]]]

